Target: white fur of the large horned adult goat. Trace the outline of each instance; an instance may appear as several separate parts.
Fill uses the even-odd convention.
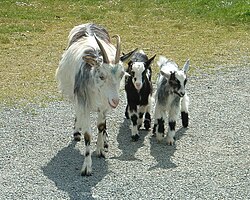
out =
[[[105,123],[106,113],[111,108],[115,108],[119,103],[119,87],[121,78],[124,75],[122,62],[117,64],[103,63],[102,56],[94,55],[86,70],[87,61],[83,59],[87,49],[93,49],[93,52],[99,52],[99,46],[94,36],[81,37],[76,42],[70,43],[73,36],[77,34],[85,25],[74,27],[69,33],[69,46],[63,53],[59,67],[56,70],[56,79],[62,94],[70,99],[75,106],[76,123],[75,132],[87,134],[88,138],[92,138],[90,131],[90,112],[98,111],[98,124]],[[100,40],[101,41],[101,40]],[[114,63],[116,48],[112,44],[101,41],[107,52],[109,60]],[[82,77],[79,80],[85,81],[79,85],[84,89],[80,89],[76,94],[75,80],[76,75],[81,71]],[[86,74],[87,73],[87,74]],[[107,140],[106,136],[98,135],[97,154],[104,156],[103,144]],[[92,172],[92,160],[90,146],[86,146],[85,153],[89,153],[84,159],[82,173],[90,175]]]

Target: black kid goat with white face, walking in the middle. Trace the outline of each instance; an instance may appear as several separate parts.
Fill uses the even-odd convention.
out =
[[[149,130],[151,126],[151,67],[155,56],[148,59],[147,55],[141,50],[136,52],[128,63],[126,72],[130,75],[126,77],[125,91],[127,94],[127,107],[125,116],[131,119],[132,140],[139,139],[138,130],[140,129],[145,113],[144,127]]]

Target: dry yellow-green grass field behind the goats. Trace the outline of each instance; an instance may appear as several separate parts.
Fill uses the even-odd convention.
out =
[[[60,99],[54,73],[68,32],[87,22],[119,33],[124,52],[138,47],[180,65],[190,58],[193,75],[249,65],[249,7],[247,0],[2,0],[0,102]]]

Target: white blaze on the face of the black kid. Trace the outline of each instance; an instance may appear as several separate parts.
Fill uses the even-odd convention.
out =
[[[142,88],[142,73],[144,72],[145,67],[143,62],[135,62],[132,65],[132,81],[137,90]]]

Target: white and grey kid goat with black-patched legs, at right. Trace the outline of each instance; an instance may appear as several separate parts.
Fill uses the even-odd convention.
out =
[[[156,133],[158,142],[164,138],[164,123],[168,112],[168,133],[167,144],[174,144],[175,126],[181,111],[181,119],[183,127],[188,126],[188,105],[189,97],[185,91],[187,83],[187,71],[189,70],[189,60],[183,66],[182,70],[178,69],[178,65],[160,56],[157,64],[160,67],[160,73],[157,79],[157,90],[155,95],[155,111],[154,111],[154,128],[153,134]]]

